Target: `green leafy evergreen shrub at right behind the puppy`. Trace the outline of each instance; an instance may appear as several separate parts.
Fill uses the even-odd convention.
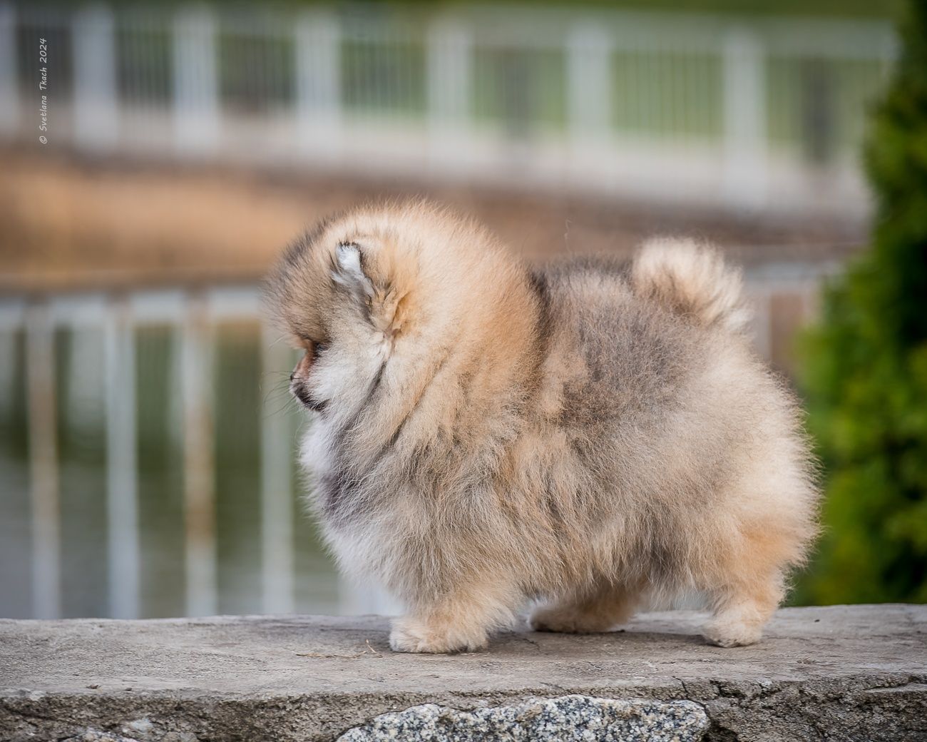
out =
[[[825,533],[798,602],[927,602],[927,3],[911,0],[874,111],[871,249],[805,338]]]

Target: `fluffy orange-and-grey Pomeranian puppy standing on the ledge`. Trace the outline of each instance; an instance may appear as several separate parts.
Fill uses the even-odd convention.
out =
[[[298,239],[268,281],[305,355],[311,500],[341,569],[402,600],[390,646],[604,632],[704,595],[749,645],[816,526],[792,395],[756,357],[740,275],[688,241],[531,270],[425,203]]]

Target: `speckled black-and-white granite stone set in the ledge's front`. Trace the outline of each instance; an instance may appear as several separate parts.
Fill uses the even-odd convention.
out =
[[[694,742],[707,728],[705,710],[692,701],[562,696],[470,711],[426,703],[377,716],[338,742]]]

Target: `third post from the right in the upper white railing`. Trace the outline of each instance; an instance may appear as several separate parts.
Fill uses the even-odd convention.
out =
[[[455,19],[438,19],[427,35],[428,134],[430,159],[465,164],[466,125],[473,78],[470,30]]]

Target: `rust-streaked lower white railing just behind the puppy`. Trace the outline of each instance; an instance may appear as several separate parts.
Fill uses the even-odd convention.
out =
[[[816,311],[821,278],[836,270],[836,265],[786,264],[747,272],[748,293],[756,309],[754,337],[760,353],[782,360],[796,326]],[[281,399],[270,390],[277,388],[280,394],[285,393],[286,385],[281,381],[286,379],[296,356],[262,323],[258,289],[244,286],[0,299],[0,350],[5,351],[0,352],[0,381],[4,385],[0,389],[0,402],[9,402],[17,365],[21,365],[20,372],[28,387],[25,432],[29,440],[31,525],[22,544],[27,541],[32,544],[29,567],[33,617],[55,618],[62,614],[64,540],[80,544],[82,539],[94,538],[61,522],[63,474],[57,446],[59,364],[55,344],[56,333],[61,330],[80,334],[80,339],[74,341],[75,347],[91,355],[95,345],[89,342],[88,334],[103,339],[99,366],[104,369],[105,377],[100,403],[104,407],[107,523],[102,531],[107,534],[108,601],[97,608],[97,615],[134,618],[146,614],[141,540],[148,527],[139,518],[144,482],[140,481],[137,460],[136,411],[140,401],[151,392],[137,388],[135,340],[136,333],[146,326],[170,328],[174,347],[179,349],[176,372],[171,372],[168,382],[168,396],[179,400],[180,406],[176,434],[183,452],[184,506],[182,522],[175,528],[183,529],[184,549],[183,556],[171,554],[159,558],[184,564],[185,587],[178,584],[175,590],[178,596],[185,595],[186,615],[209,615],[220,609],[217,540],[221,534],[217,504],[222,493],[216,492],[213,458],[218,431],[212,358],[216,328],[227,323],[262,328],[257,351],[263,389],[255,418],[260,420],[260,476],[256,478],[260,483],[260,530],[256,531],[260,533],[260,569],[255,570],[259,587],[238,605],[247,612],[265,613],[286,613],[297,608],[335,609],[295,598],[298,516],[294,515],[292,471],[297,431],[293,417],[280,414]],[[16,343],[12,340],[19,333],[25,336],[21,359],[13,352]],[[95,360],[91,358],[91,365]],[[79,373],[78,366],[74,365],[69,373]],[[242,383],[253,384],[255,380],[248,377]],[[237,402],[230,399],[222,403]],[[0,482],[0,489],[6,491],[4,497],[12,497],[14,493],[6,487],[5,482]],[[0,499],[0,504],[8,515],[9,503]],[[348,583],[340,584],[339,595],[337,609],[344,613],[395,609],[383,595],[359,590]]]

